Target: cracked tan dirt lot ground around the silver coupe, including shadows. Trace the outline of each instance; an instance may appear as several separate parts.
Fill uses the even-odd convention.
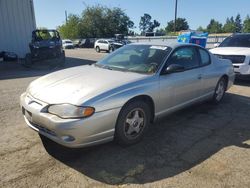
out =
[[[71,67],[106,54],[66,55]],[[41,141],[19,108],[28,84],[48,72],[0,62],[0,187],[250,187],[249,81],[238,81],[218,106],[203,103],[159,120],[137,145],[69,151]]]

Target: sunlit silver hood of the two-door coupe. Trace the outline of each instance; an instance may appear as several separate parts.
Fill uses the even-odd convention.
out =
[[[148,77],[86,65],[57,71],[33,81],[27,93],[48,104],[81,105],[106,91]]]

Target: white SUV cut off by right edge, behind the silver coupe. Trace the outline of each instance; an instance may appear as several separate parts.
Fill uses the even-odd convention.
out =
[[[227,37],[210,52],[219,58],[231,60],[236,74],[250,76],[250,33]]]

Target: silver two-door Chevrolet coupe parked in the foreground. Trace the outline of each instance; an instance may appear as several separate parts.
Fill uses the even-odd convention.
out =
[[[200,46],[130,44],[96,64],[38,78],[20,101],[29,127],[61,145],[130,145],[160,116],[220,102],[234,77],[229,60]]]

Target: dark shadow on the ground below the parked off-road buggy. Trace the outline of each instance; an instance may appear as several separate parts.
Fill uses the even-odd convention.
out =
[[[20,61],[0,62],[0,80],[43,76],[61,69],[95,63],[95,61],[72,57],[66,57],[64,67],[58,67],[54,62],[56,60],[36,62],[31,68],[22,66]]]

